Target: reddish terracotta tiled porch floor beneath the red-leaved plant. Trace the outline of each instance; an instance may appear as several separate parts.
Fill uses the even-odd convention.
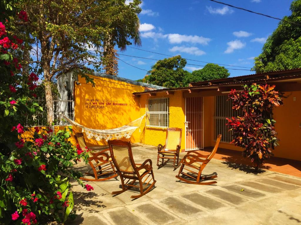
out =
[[[205,149],[203,154],[208,154],[211,149]],[[250,159],[243,158],[241,152],[233,151],[229,149],[218,149],[214,156],[215,159],[219,159],[227,162],[227,164],[247,165],[252,167]],[[291,176],[301,177],[301,162],[297,160],[290,160],[278,157],[271,157],[263,165],[262,169],[283,173]]]

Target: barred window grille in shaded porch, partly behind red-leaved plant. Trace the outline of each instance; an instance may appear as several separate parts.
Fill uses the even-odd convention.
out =
[[[230,143],[233,140],[233,131],[228,131],[226,118],[237,117],[241,114],[241,110],[232,109],[232,100],[228,100],[227,95],[215,97],[214,109],[214,140],[218,134],[222,134],[221,142]]]

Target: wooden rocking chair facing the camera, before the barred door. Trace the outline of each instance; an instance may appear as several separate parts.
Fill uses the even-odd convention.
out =
[[[163,167],[170,159],[173,159],[173,167],[178,168],[179,164],[179,154],[181,149],[181,128],[167,128],[165,145],[158,145],[158,158],[157,166]],[[160,159],[162,159],[161,164],[159,164]],[[167,159],[164,164],[164,159]],[[175,163],[177,161],[177,164]]]

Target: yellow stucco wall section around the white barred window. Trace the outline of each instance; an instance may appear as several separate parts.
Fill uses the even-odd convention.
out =
[[[141,95],[139,102],[145,112],[147,98],[169,98],[169,127],[182,128],[181,150],[185,149],[185,98],[182,91],[175,91],[173,95],[166,92],[157,93],[156,96]],[[165,144],[166,129],[145,127],[144,122],[142,142],[148,145],[158,146]]]

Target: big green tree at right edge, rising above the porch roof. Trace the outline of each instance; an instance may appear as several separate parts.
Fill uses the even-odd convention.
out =
[[[301,24],[301,0],[293,1],[290,10],[292,14],[283,17],[254,59],[256,73],[301,67],[301,26],[286,22]]]

